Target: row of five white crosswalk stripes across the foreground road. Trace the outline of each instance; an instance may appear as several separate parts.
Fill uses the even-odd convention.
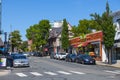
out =
[[[78,72],[78,71],[56,71],[56,72],[52,72],[52,71],[46,71],[46,72],[27,72],[27,73],[23,73],[23,72],[19,72],[19,73],[15,73],[15,75],[17,75],[18,77],[28,77],[30,76],[29,74],[31,75],[34,75],[34,76],[45,76],[45,75],[50,75],[50,76],[57,76],[57,75],[72,75],[72,74],[78,74],[78,75],[84,75],[86,73],[83,73],[83,72]]]

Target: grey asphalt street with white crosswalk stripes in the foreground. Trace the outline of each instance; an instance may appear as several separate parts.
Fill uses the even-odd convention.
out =
[[[120,69],[83,65],[48,57],[29,57],[30,67],[12,68],[0,80],[119,80]]]

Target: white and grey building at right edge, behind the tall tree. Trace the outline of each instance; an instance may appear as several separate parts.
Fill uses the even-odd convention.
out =
[[[113,16],[113,23],[116,30],[112,59],[120,60],[120,11],[112,13],[112,16]]]

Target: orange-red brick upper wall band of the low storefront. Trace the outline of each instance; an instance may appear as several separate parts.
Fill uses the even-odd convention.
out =
[[[86,46],[88,43],[94,41],[102,41],[103,40],[103,33],[102,31],[94,32],[87,34],[84,38],[76,37],[70,40],[70,44],[75,47]]]

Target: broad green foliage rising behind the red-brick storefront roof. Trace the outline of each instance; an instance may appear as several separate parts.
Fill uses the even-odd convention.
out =
[[[88,34],[92,32],[92,29],[100,30],[100,26],[94,20],[80,20],[78,26],[73,26],[72,32],[74,33],[74,37],[81,36],[83,34]]]

